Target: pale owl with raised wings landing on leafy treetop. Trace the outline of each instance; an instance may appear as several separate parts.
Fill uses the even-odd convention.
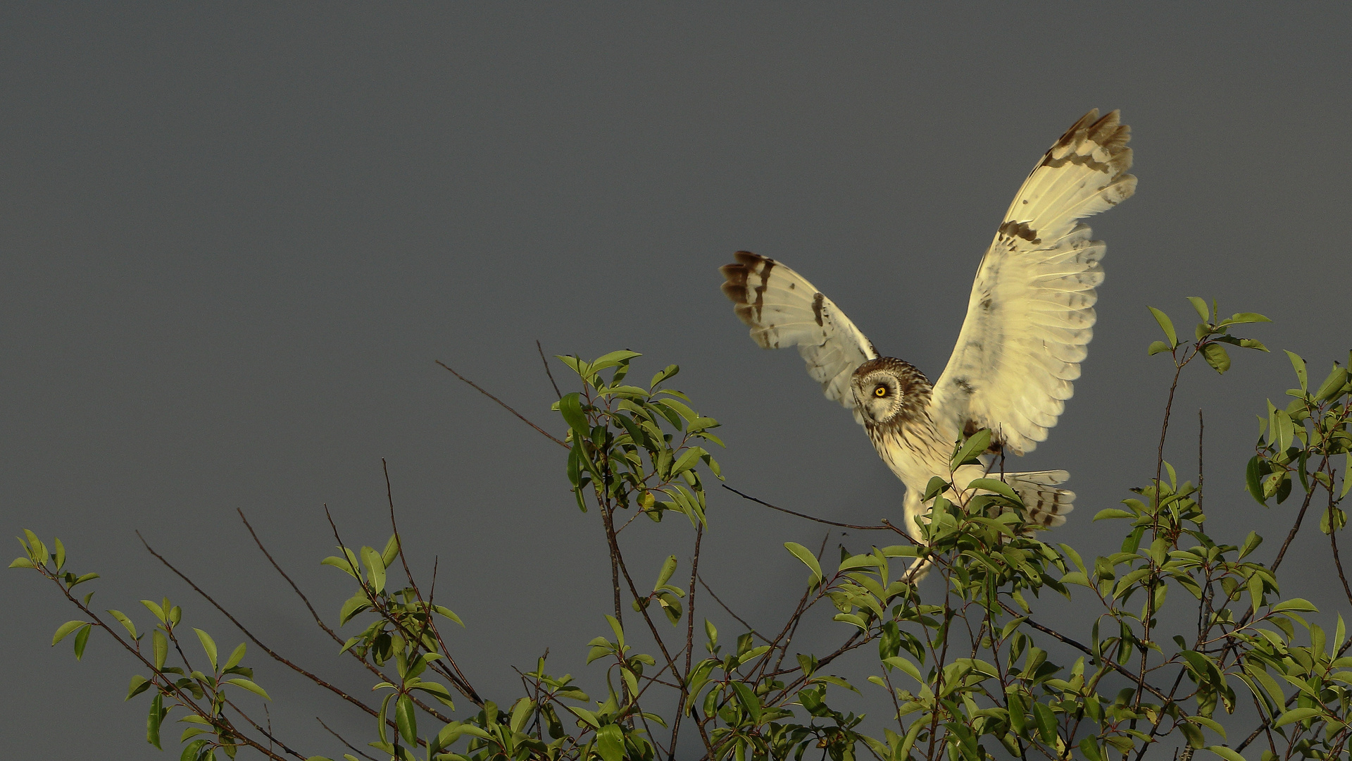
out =
[[[1033,168],[976,271],[967,318],[948,366],[930,383],[914,366],[880,356],[836,303],[788,267],[745,251],[722,268],[723,294],[763,348],[796,345],[826,397],[854,413],[883,462],[906,485],[906,531],[921,540],[932,477],[949,478],[963,436],[987,428],[983,466],[952,474],[967,492],[998,454],[1023,455],[1046,439],[1073,394],[1092,337],[1103,241],[1076,219],[1136,191],[1130,127],[1090,111]],[[1065,523],[1075,493],[1064,470],[1005,473],[1030,524]]]

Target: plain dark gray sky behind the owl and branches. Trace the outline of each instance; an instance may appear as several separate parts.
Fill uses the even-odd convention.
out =
[[[1115,551],[1117,527],[1088,519],[1153,474],[1169,368],[1145,357],[1146,303],[1183,333],[1187,295],[1275,321],[1248,330],[1272,355],[1237,353],[1224,378],[1190,368],[1169,447],[1195,471],[1205,406],[1209,525],[1234,543],[1265,531],[1260,559],[1293,510],[1241,490],[1253,413],[1293,383],[1282,348],[1322,378],[1352,343],[1341,4],[0,16],[4,532],[59,536],[76,570],[103,574],[100,609],[146,628],[137,600],[169,594],[233,647],[141,529],[265,642],[354,691],[369,680],[283,593],[237,508],[335,619],[352,590],[318,563],[334,544],[322,505],[349,544],[383,543],[387,458],[411,558],[425,574],[439,558],[438,596],[468,624],[452,647],[476,685],[510,703],[507,666],[550,647],[595,688],[596,516],[573,505],[561,450],[434,360],[556,431],[537,339],[645,352],[635,376],[679,363],[673,385],[723,422],[729,483],[837,520],[899,516],[867,437],[795,352],[754,348],[717,268],[737,249],[780,259],[937,376],[1000,214],[1088,108],[1122,108],[1140,188],[1091,221],[1109,244],[1095,340],[1061,424],[1019,463],[1072,473],[1059,540]],[[804,580],[783,543],[815,546],[818,525],[717,494],[710,521],[707,578],[757,626],[780,622]],[[667,552],[684,569],[690,534],[645,527],[639,575]],[[1309,586],[1288,592],[1334,609],[1322,538],[1297,550],[1286,570]],[[47,650],[76,612],[53,592],[0,582],[5,756],[165,757],[145,745],[145,700],[122,703],[135,668],[111,642],[81,664]],[[341,754],[316,714],[370,734],[262,658],[250,649],[285,703],[273,726],[306,753]]]

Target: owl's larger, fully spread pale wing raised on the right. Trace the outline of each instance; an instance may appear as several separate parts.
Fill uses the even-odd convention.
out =
[[[1032,451],[1065,409],[1094,336],[1102,241],[1082,217],[1130,198],[1130,127],[1090,111],[1042,156],[982,259],[932,413]]]

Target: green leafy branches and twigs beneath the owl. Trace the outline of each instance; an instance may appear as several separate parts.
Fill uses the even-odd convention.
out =
[[[718,422],[665,386],[676,366],[646,386],[626,383],[639,355],[621,351],[594,362],[560,357],[581,382],[579,391],[560,394],[554,405],[568,432],[560,440],[537,428],[566,448],[577,506],[595,510],[606,536],[612,609],[587,658],[604,668],[600,699],[588,696],[572,676],[549,673],[545,658],[521,674],[525,693],[515,700],[496,703],[476,691],[441,634],[446,622],[461,622],[435,601],[435,575],[425,593],[410,571],[392,502],[395,534],[383,550],[350,548],[333,527],[339,554],[323,563],[354,582],[352,599],[338,612],[339,627],[360,627],[352,636],[329,627],[268,555],[339,654],[372,673],[373,691],[383,695],[379,704],[349,695],[239,628],[269,657],[375,719],[366,750],[339,738],[350,761],[376,758],[370,749],[400,761],[696,756],[742,761],[810,753],[838,761],[1072,754],[1140,761],[1152,749],[1179,745],[1188,756],[1207,749],[1237,761],[1256,741],[1264,761],[1347,757],[1352,638],[1341,616],[1332,635],[1307,620],[1303,613],[1314,607],[1283,593],[1278,571],[1313,508],[1352,603],[1337,544],[1347,525],[1341,502],[1352,470],[1348,367],[1334,363],[1315,385],[1306,363],[1287,352],[1298,387],[1287,391],[1284,406],[1267,404],[1244,483],[1263,505],[1286,504],[1297,493],[1302,498],[1278,552],[1260,562],[1257,534],[1241,546],[1207,534],[1201,437],[1197,483],[1179,481],[1178,469],[1164,460],[1164,444],[1184,367],[1202,357],[1225,372],[1226,345],[1267,351],[1230,334],[1236,325],[1265,318],[1249,313],[1221,318],[1214,302],[1190,301],[1201,318],[1192,341],[1180,341],[1169,317],[1152,309],[1165,340],[1152,344],[1149,353],[1167,353],[1175,372],[1153,478],[1133,489],[1122,508],[1095,516],[1122,528],[1117,552],[1086,561],[1073,547],[1044,542],[1046,535],[1025,523],[1018,494],[995,470],[961,492],[950,477],[936,477],[926,494],[933,509],[923,536],[907,536],[888,521],[850,525],[891,539],[854,554],[842,548],[833,562],[823,557],[825,542],[815,551],[787,542],[808,578],[783,626],[769,634],[746,626],[734,638],[721,636],[707,616],[696,623],[696,601],[722,607],[699,574],[702,539],[710,529],[706,479],[722,478],[706,448],[722,445],[711,432]],[[979,454],[988,444],[984,431],[956,441],[950,469],[982,462]],[[691,527],[688,571],[680,577],[676,555],[635,561],[625,551],[626,531],[637,529],[631,527],[639,516],[650,523],[637,525],[652,525],[667,513],[680,513]],[[671,524],[661,531],[685,531],[685,521],[665,528]],[[97,574],[65,570],[59,540],[49,548],[26,532],[20,543],[24,554],[12,567],[53,582],[82,615],[58,627],[53,645],[74,635],[80,658],[91,632],[101,630],[138,662],[145,676],[132,677],[127,699],[150,693],[150,743],[161,746],[164,723],[176,712],[185,724],[180,738],[185,761],[218,758],[218,752],[234,758],[242,746],[273,760],[307,758],[246,712],[253,708],[242,697],[269,699],[243,665],[246,645],[220,659],[212,636],[193,630],[203,655],[189,658],[195,649],[181,636],[180,607],[143,600],[153,616],[147,638],[131,616],[96,612],[92,593],[76,596],[74,588]],[[650,575],[635,575],[631,567],[639,566]],[[914,578],[919,567],[930,571],[923,585]],[[1073,631],[1038,619],[1036,607],[1046,590],[1079,604],[1083,617],[1072,623]],[[1164,616],[1167,601],[1174,608]],[[1194,609],[1195,615],[1180,612]],[[799,626],[827,613],[841,627],[837,646],[818,653],[795,647]],[[1171,623],[1179,620],[1195,626]],[[1052,659],[1064,654],[1075,659]],[[845,657],[872,673],[873,688],[833,673]],[[863,715],[834,707],[841,691],[861,688],[876,689],[868,695],[886,716],[877,737],[865,734]],[[458,712],[457,703],[464,707]],[[1233,714],[1241,704],[1252,704],[1260,722],[1247,737],[1234,735],[1241,727]]]

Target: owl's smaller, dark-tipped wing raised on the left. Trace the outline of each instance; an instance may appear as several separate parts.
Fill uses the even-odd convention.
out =
[[[752,326],[752,340],[765,349],[796,345],[826,397],[853,409],[850,376],[877,357],[873,344],[798,272],[745,251],[734,257],[735,264],[721,268],[727,279],[723,294],[737,305],[737,317]]]

